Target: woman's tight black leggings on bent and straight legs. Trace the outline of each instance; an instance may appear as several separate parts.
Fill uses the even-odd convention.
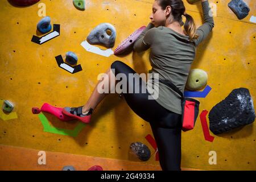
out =
[[[139,83],[129,80],[129,73],[136,73],[122,61],[114,61],[111,68],[118,73],[124,73],[127,78],[127,93],[122,93],[127,104],[139,117],[150,123],[159,152],[159,162],[163,170],[181,170],[181,114],[165,109],[155,100],[148,100],[150,93],[142,93],[146,83],[139,78]],[[137,73],[138,74],[138,73]],[[139,77],[139,76],[138,76]],[[117,81],[118,82],[118,81]],[[133,86],[131,85],[133,84]],[[128,88],[133,87],[133,93]],[[135,88],[140,88],[135,93]],[[122,89],[122,88],[121,88]]]

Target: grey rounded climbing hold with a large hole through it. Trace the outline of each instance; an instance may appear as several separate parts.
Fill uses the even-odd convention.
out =
[[[111,33],[111,35],[109,35]],[[94,28],[87,36],[90,44],[103,44],[106,47],[113,47],[115,42],[115,27],[110,23],[101,23]]]

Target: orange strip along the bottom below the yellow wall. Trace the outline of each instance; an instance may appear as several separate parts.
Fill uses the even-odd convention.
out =
[[[101,166],[104,171],[159,171],[159,165],[146,162],[95,158],[92,156],[65,154],[45,151],[46,164],[42,162],[42,153],[22,147],[0,146],[0,170],[60,171],[64,166],[73,166],[78,171],[87,171],[92,166]],[[197,170],[182,168],[182,170]]]

